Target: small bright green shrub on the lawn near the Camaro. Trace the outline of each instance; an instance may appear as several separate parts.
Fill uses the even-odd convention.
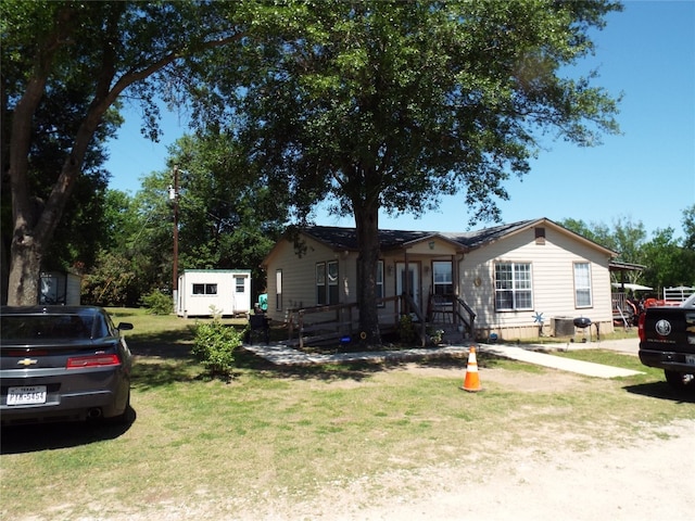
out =
[[[228,376],[235,367],[235,350],[241,345],[242,334],[216,316],[212,322],[195,325],[191,353],[213,376]]]

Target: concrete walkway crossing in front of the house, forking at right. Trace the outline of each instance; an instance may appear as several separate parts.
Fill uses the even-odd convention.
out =
[[[345,361],[384,361],[384,360],[417,360],[424,357],[444,356],[444,355],[466,355],[470,345],[448,345],[443,347],[414,348],[402,351],[369,351],[362,353],[336,353],[334,355],[307,354],[299,350],[294,350],[283,344],[275,343],[270,345],[254,344],[244,345],[257,356],[265,358],[275,365],[314,365],[314,364],[336,364]],[[528,347],[519,347],[505,344],[475,344],[478,352],[490,353],[513,360],[534,364],[536,366],[549,367],[561,371],[576,372],[595,378],[619,378],[641,374],[640,371],[622,369],[620,367],[604,366],[602,364],[593,364],[590,361],[572,360],[563,358],[547,353],[540,353],[534,348],[559,348],[560,351],[586,350],[586,348],[604,348],[618,351],[626,354],[636,354],[636,340],[622,340],[610,342],[592,342],[587,344],[551,344],[535,345]]]

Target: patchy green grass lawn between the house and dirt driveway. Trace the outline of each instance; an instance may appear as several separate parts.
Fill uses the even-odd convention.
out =
[[[179,500],[249,507],[268,491],[299,500],[355,480],[387,494],[378,476],[388,471],[456,465],[471,452],[497,465],[526,445],[581,452],[695,418],[660,371],[603,351],[559,356],[644,374],[599,380],[481,354],[484,390],[466,393],[456,358],[278,368],[240,351],[224,381],[189,355],[194,321],[112,313],[136,328],[135,421],[4,429],[2,519],[109,519]]]

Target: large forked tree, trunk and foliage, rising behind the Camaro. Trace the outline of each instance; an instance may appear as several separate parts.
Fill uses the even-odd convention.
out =
[[[177,66],[205,58],[206,51],[238,41],[231,20],[240,3],[13,1],[0,4],[2,36],[2,166],[12,195],[12,241],[8,303],[35,304],[42,256],[65,204],[83,173],[86,154],[104,115],[128,94],[142,102],[151,137],[156,138],[155,96],[176,98],[182,78]],[[190,78],[189,78],[190,79]],[[79,84],[90,92],[48,199],[37,203],[28,167],[36,139],[36,115],[62,86]],[[168,90],[167,90],[168,89]],[[3,123],[4,125],[4,123]]]

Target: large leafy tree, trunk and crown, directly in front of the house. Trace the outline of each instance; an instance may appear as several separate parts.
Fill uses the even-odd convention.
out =
[[[617,3],[251,8],[249,65],[233,75],[215,69],[217,92],[241,107],[230,126],[268,179],[288,187],[300,216],[325,200],[354,216],[361,330],[371,343],[380,342],[380,211],[420,214],[460,192],[471,220],[497,219],[495,201],[508,198],[504,181],[528,173],[544,132],[593,145],[618,131],[617,100],[593,85],[594,74],[568,76],[594,51],[590,30]]]

